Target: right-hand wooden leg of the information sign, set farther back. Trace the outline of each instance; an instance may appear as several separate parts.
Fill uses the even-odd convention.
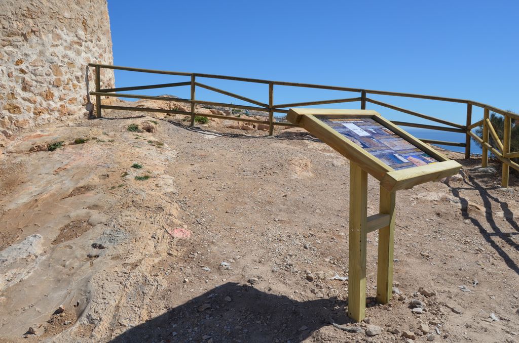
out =
[[[389,215],[389,226],[378,231],[377,301],[387,304],[393,296],[395,192],[380,187],[380,213]]]

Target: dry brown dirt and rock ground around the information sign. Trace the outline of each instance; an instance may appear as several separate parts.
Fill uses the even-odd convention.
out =
[[[459,175],[397,193],[397,289],[374,302],[370,233],[354,323],[345,158],[280,129],[105,116],[1,148],[0,341],[519,341],[519,181],[495,162],[453,153]]]

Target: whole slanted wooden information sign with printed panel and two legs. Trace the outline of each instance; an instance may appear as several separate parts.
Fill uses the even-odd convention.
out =
[[[461,165],[373,110],[297,108],[286,118],[350,160],[348,316],[361,321],[367,234],[378,230],[377,301],[387,304],[392,297],[396,191],[454,175]],[[379,213],[369,217],[367,174],[380,181]]]

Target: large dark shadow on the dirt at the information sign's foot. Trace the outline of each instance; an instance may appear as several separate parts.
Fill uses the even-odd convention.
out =
[[[301,342],[322,326],[351,323],[346,302],[298,302],[228,282],[130,328],[112,342]],[[210,337],[210,338],[209,338]]]

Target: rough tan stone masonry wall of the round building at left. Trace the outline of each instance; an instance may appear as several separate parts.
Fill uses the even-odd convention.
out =
[[[0,1],[0,133],[85,116],[89,62],[113,63],[106,0]]]

